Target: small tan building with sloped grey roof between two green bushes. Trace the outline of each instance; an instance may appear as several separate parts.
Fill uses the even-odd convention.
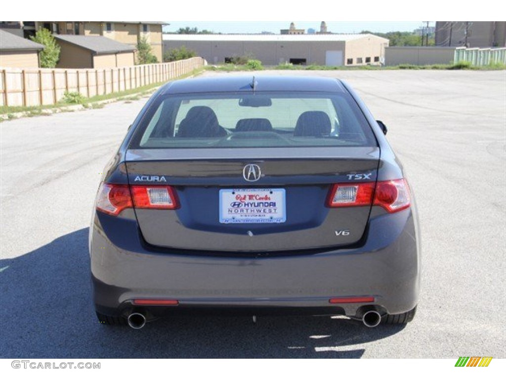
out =
[[[103,36],[57,34],[61,68],[109,68],[133,66],[134,48]]]

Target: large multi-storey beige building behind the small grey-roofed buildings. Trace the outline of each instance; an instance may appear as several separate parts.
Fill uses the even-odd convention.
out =
[[[111,40],[130,45],[134,49],[145,38],[151,45],[152,54],[163,62],[162,27],[167,23],[159,21],[25,21],[29,31],[46,28],[53,34],[81,34],[104,36]],[[31,24],[33,23],[33,26]]]

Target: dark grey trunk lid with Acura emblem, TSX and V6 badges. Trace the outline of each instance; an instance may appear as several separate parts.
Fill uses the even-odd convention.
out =
[[[136,208],[148,244],[293,251],[361,239],[370,205],[327,198],[335,183],[375,181],[379,148],[131,149],[125,161],[131,185],[170,185],[178,199],[176,210]]]

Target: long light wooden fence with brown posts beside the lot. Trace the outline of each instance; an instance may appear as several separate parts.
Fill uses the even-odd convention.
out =
[[[200,57],[182,61],[97,69],[0,68],[0,106],[55,104],[65,92],[86,97],[170,81],[205,65]]]

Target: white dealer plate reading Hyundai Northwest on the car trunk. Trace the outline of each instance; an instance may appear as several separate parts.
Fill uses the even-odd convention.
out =
[[[284,223],[284,188],[220,190],[220,223]]]

